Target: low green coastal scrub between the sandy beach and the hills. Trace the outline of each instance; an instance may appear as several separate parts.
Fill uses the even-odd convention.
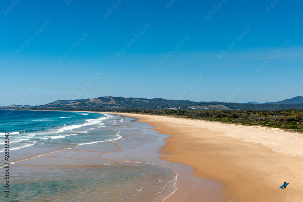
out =
[[[35,109],[58,110],[58,109]],[[282,110],[132,110],[98,108],[63,108],[66,111],[121,112],[147,115],[175,116],[243,125],[262,125],[303,132],[303,109]]]

